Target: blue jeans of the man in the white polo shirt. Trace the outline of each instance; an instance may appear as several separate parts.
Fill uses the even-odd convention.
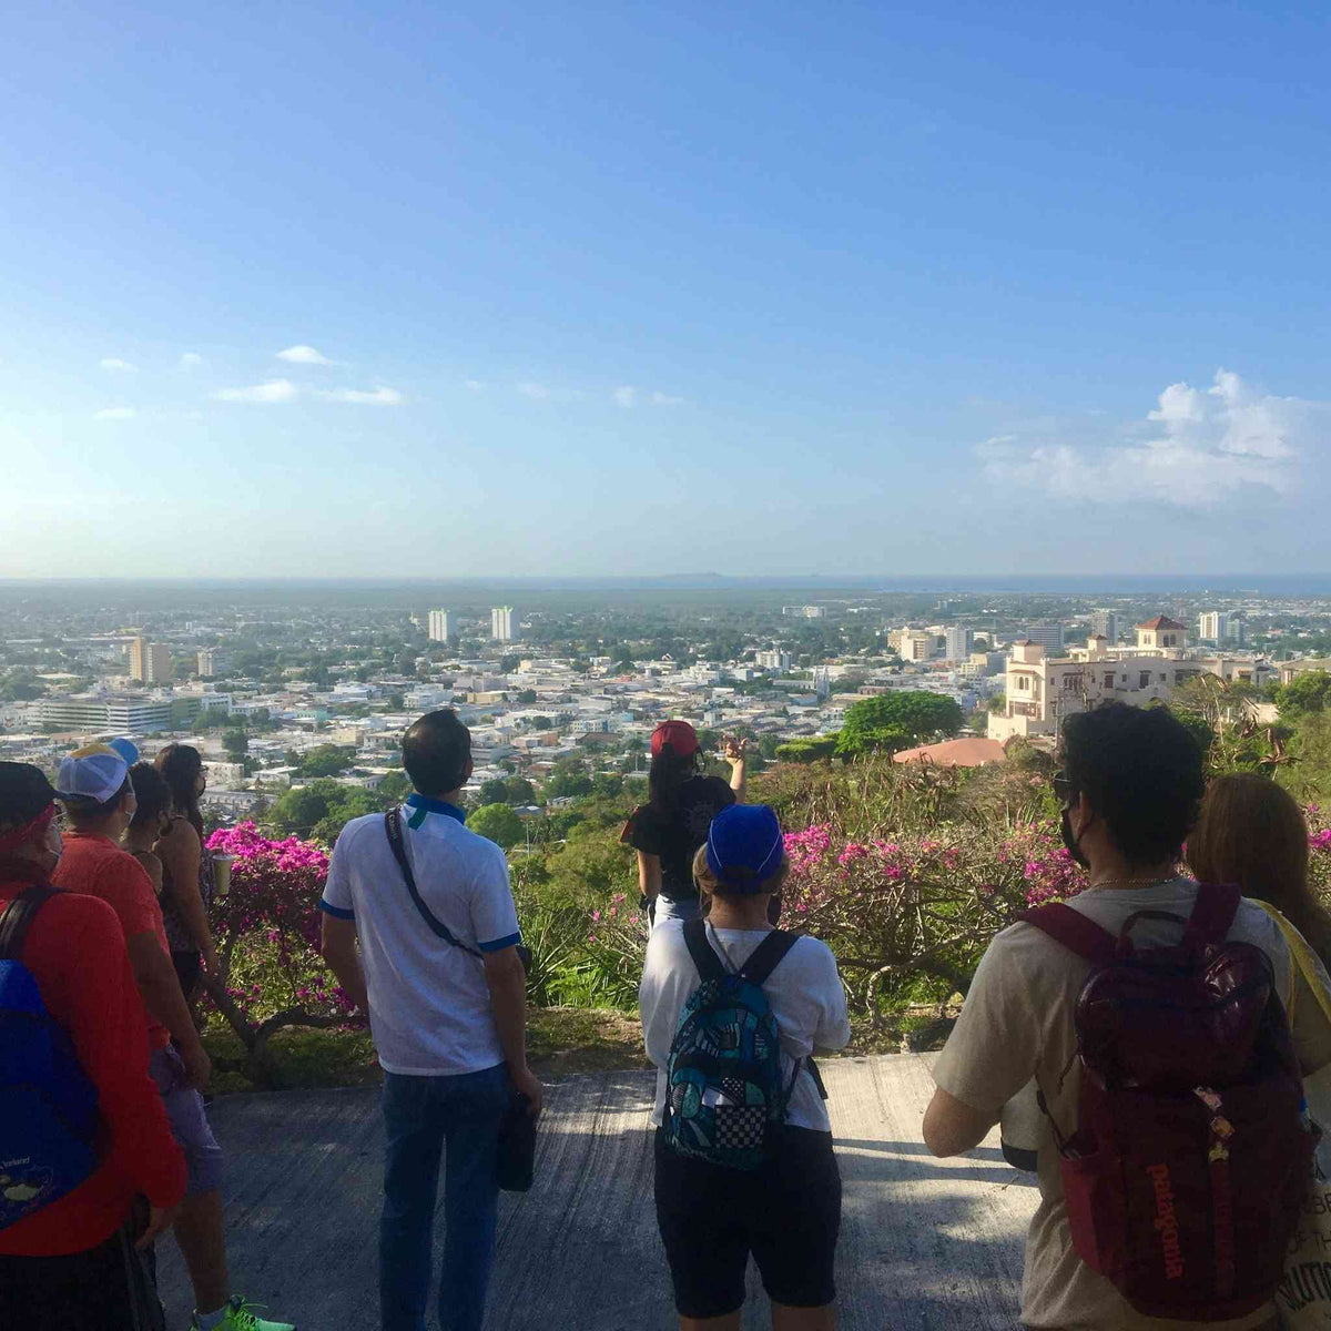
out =
[[[383,1331],[425,1331],[439,1157],[443,1179],[442,1331],[480,1331],[495,1255],[495,1153],[508,1103],[503,1063],[457,1077],[385,1073],[379,1310]]]

